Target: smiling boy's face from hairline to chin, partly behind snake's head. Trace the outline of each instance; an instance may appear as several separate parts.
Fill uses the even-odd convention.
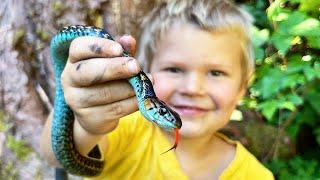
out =
[[[240,40],[175,25],[158,43],[151,64],[157,96],[182,119],[181,135],[200,137],[223,127],[244,94]]]

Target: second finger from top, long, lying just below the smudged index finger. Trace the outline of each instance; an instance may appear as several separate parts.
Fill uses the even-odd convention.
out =
[[[107,81],[126,79],[140,70],[137,60],[128,57],[93,58],[67,63],[62,75],[63,86],[90,86]]]

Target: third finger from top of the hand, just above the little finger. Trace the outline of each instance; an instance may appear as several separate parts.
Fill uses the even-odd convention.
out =
[[[65,90],[66,102],[73,108],[87,108],[121,101],[135,96],[127,80],[111,81],[89,87]]]

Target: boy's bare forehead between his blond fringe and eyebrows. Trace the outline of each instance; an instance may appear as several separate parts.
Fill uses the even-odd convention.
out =
[[[158,43],[156,55],[178,58],[236,58],[242,54],[241,41],[229,32],[209,32],[193,25],[173,26]],[[182,53],[182,54],[181,54]]]

